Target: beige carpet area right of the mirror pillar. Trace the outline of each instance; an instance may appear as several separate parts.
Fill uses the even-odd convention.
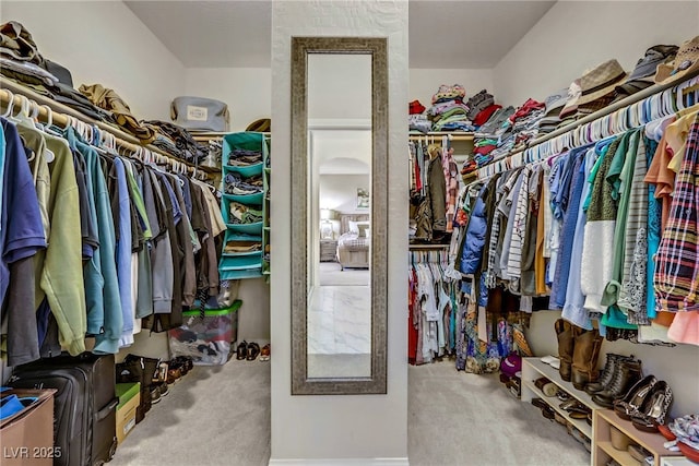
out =
[[[453,361],[408,369],[411,466],[583,466],[590,453],[541,410],[510,395],[497,374]]]

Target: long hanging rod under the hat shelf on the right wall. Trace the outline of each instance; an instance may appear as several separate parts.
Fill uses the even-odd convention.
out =
[[[513,155],[518,155],[520,153],[523,153],[528,150],[531,150],[535,146],[538,146],[543,143],[545,143],[546,141],[553,140],[554,138],[558,138],[560,135],[565,135],[568,133],[571,133],[573,131],[576,131],[577,129],[579,129],[580,127],[582,127],[583,124],[596,121],[601,118],[604,118],[608,115],[614,113],[615,111],[618,111],[623,108],[626,107],[630,107],[631,105],[639,103],[648,97],[654,96],[654,95],[659,95],[661,93],[663,93],[664,91],[667,91],[671,87],[677,87],[684,83],[686,83],[687,81],[692,80],[694,77],[699,75],[699,70],[692,71],[691,73],[688,73],[687,76],[685,76],[685,79],[683,81],[680,81],[679,83],[670,83],[670,84],[653,84],[652,86],[649,86],[647,88],[644,88],[643,91],[639,91],[636,94],[631,94],[628,97],[623,98],[621,100],[614,103],[612,105],[608,105],[593,113],[590,113],[579,120],[576,120],[571,123],[566,124],[562,128],[558,128],[555,131],[552,131],[550,133],[547,133],[541,138],[537,138],[535,140],[533,140],[532,142],[530,142],[525,147],[522,148],[518,148],[516,151],[511,151],[505,155],[501,155],[499,157],[494,158],[493,160],[488,162],[486,165],[478,167],[477,171],[478,174],[481,174],[484,168],[496,164],[502,159],[506,159],[508,157],[512,157]],[[479,175],[481,176],[481,175]]]

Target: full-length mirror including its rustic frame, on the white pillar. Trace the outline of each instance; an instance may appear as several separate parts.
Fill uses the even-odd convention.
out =
[[[292,393],[386,393],[386,39],[292,40]]]

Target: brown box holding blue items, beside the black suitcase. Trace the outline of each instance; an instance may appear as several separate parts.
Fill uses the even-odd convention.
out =
[[[54,394],[56,390],[10,389],[0,396],[36,397],[22,411],[0,421],[2,466],[51,466],[61,456],[54,445]]]

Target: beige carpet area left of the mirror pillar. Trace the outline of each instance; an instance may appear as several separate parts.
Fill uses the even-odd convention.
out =
[[[270,365],[198,366],[170,385],[109,466],[262,466],[270,461]]]

